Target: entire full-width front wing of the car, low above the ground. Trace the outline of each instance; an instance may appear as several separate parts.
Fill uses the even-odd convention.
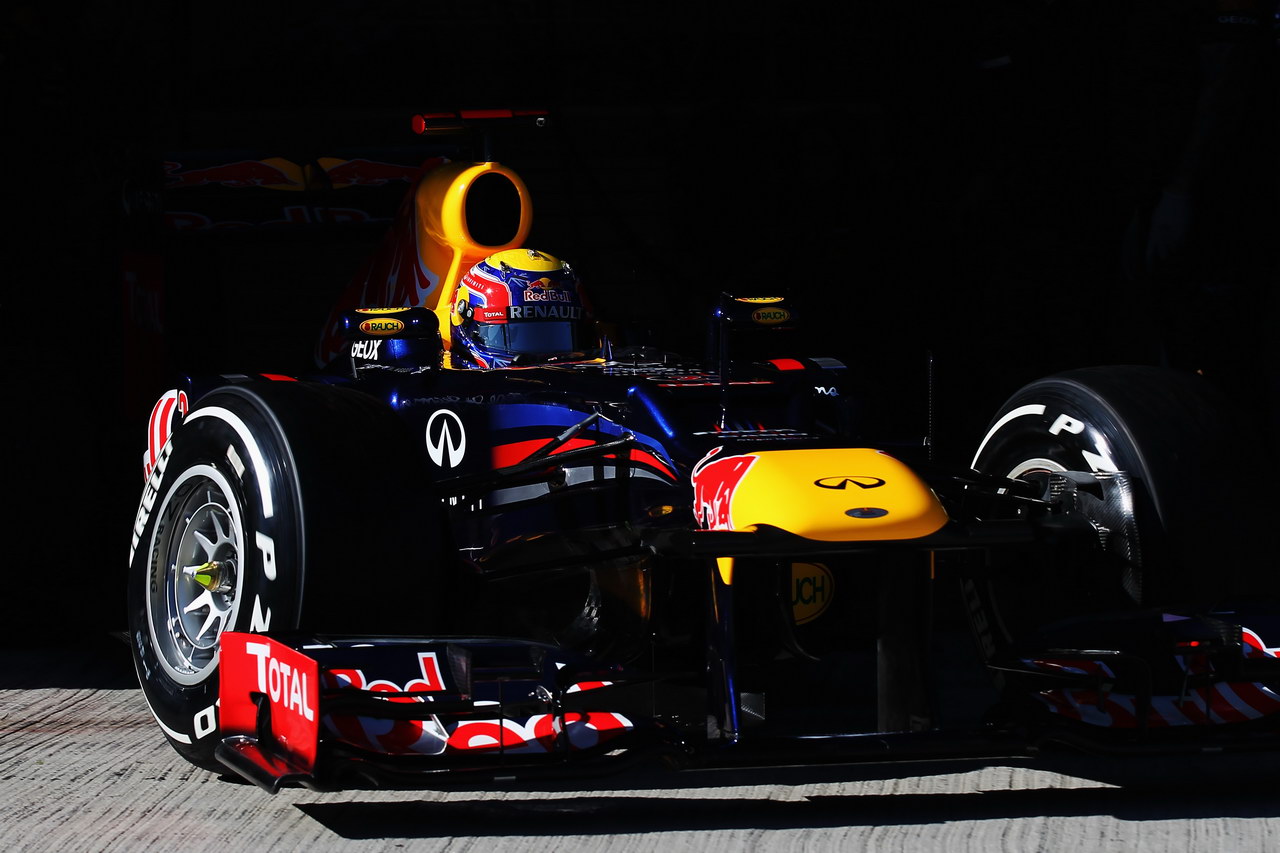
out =
[[[270,793],[284,785],[449,786],[643,768],[1030,757],[1052,766],[1053,756],[1070,762],[1082,753],[1210,756],[1257,767],[1270,760],[1261,753],[1280,749],[1280,695],[1253,681],[1274,679],[1280,661],[1249,643],[1239,671],[1210,679],[1190,667],[1181,695],[1126,697],[1116,661],[1102,651],[1057,649],[1018,661],[1006,674],[1025,683],[1024,695],[1057,706],[1039,730],[741,739],[717,736],[714,726],[701,736],[695,715],[659,711],[663,681],[689,674],[628,672],[529,640],[227,633],[221,643],[216,756]],[[1244,690],[1266,692],[1267,707],[1224,717],[1226,699]],[[1146,710],[1137,729],[1119,721],[1125,702]],[[1203,706],[1215,719],[1161,720],[1174,703]]]

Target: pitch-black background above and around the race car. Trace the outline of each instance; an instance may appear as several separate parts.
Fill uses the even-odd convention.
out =
[[[893,389],[906,433],[932,356],[961,461],[1019,384],[1089,364],[1201,369],[1275,423],[1274,38],[1215,23],[1253,4],[123,5],[3,13],[12,639],[115,626],[166,377],[305,368],[379,237],[166,240],[146,188],[172,150],[315,156],[412,145],[417,110],[544,106],[499,149],[529,242],[644,339],[696,351],[724,282],[795,287],[813,353]],[[163,300],[128,296],[125,259]]]

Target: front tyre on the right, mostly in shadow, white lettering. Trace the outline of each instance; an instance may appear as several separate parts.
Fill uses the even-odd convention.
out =
[[[1082,612],[1274,597],[1257,552],[1262,441],[1238,412],[1198,374],[1142,365],[1071,370],[1011,396],[973,467],[1038,485],[1064,471],[1120,471],[1103,485],[1126,517],[1091,519],[1110,537],[1092,555],[997,556],[989,576],[965,581],[988,657]],[[1080,501],[1085,515],[1091,501]]]

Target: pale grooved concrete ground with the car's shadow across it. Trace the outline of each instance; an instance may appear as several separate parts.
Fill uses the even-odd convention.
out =
[[[88,653],[86,653],[88,649]],[[123,644],[0,649],[8,850],[1274,850],[1280,793],[1222,776],[1116,788],[1036,766],[672,774],[508,790],[285,790],[186,765]]]

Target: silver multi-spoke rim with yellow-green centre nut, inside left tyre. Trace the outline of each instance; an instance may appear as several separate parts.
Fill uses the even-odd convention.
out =
[[[244,553],[239,506],[214,467],[183,471],[160,506],[151,542],[147,622],[160,665],[179,684],[218,665],[218,638],[236,624]]]

